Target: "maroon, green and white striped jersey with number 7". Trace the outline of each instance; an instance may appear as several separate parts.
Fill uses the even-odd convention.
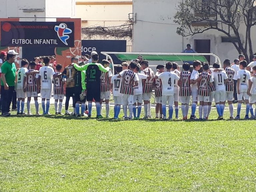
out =
[[[180,74],[180,96],[191,96],[190,71],[182,71]]]

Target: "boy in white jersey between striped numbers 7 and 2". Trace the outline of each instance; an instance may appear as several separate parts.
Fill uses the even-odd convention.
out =
[[[198,70],[201,69],[201,62],[196,60],[193,62],[193,71],[191,73],[190,82],[191,82],[191,96],[192,96],[192,105],[191,105],[191,120],[197,120],[195,113],[196,113],[196,106],[197,106],[197,96],[198,96],[198,88],[197,82],[201,80],[202,77],[199,77]]]

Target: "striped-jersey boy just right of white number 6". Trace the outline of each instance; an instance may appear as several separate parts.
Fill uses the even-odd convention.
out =
[[[56,74],[62,75],[61,70],[62,70],[62,65],[57,64],[56,65]],[[64,81],[62,81],[62,79],[63,79],[62,76],[53,78],[53,86],[54,86],[53,98],[55,99],[55,102],[54,102],[55,115],[63,115],[63,114],[61,114],[62,101],[64,99],[64,86],[63,86]],[[59,102],[59,109],[58,109],[58,102]]]

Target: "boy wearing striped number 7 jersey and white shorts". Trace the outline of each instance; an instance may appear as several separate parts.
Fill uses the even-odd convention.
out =
[[[180,74],[179,86],[180,86],[180,102],[181,102],[181,111],[182,111],[182,120],[188,119],[188,108],[191,96],[191,87],[190,87],[190,76],[189,71],[190,64],[184,63],[182,65],[183,71]]]

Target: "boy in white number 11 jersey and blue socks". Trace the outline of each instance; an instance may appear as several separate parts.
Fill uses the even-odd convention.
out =
[[[219,69],[220,65],[219,63],[214,63],[213,64],[214,69]],[[228,82],[228,76],[224,70],[219,70],[219,71],[214,71],[212,73],[212,77],[214,79],[215,83],[215,103],[216,103],[216,109],[218,112],[218,119],[217,120],[222,120],[223,119],[223,113],[224,113],[224,108],[225,108],[225,101],[226,101],[226,86],[225,83]]]

